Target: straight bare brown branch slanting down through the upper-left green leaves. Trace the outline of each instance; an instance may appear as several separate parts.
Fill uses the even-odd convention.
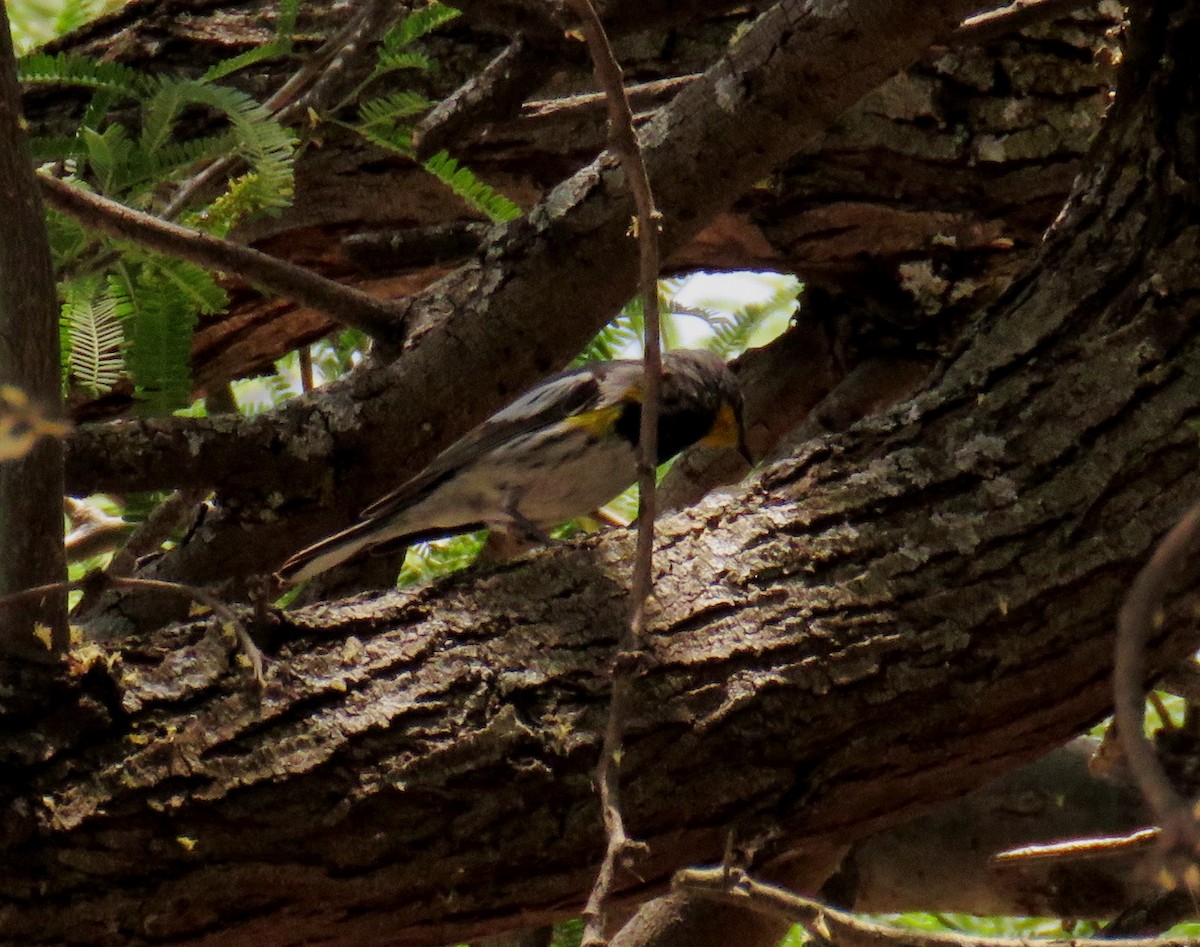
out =
[[[234,274],[377,338],[397,338],[403,330],[403,305],[378,300],[361,289],[326,280],[258,250],[161,221],[48,174],[40,174],[37,179],[47,204],[91,230],[132,240],[210,270]]]

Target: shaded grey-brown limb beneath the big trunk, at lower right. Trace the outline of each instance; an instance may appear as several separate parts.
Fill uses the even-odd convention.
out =
[[[856,845],[823,892],[856,911],[1115,917],[1160,893],[1146,851],[1105,858],[991,856],[1026,845],[1120,837],[1151,825],[1132,781],[1098,777],[1099,741],[1073,741],[970,796]]]

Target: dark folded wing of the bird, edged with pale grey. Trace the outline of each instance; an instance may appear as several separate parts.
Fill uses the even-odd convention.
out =
[[[412,480],[362,510],[361,519],[388,517],[404,510],[466,463],[485,456],[506,440],[600,407],[605,397],[604,377],[616,365],[608,362],[570,368],[530,389],[446,448]]]

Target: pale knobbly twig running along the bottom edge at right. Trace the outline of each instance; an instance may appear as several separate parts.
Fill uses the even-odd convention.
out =
[[[803,924],[839,947],[1027,947],[1026,937],[983,937],[898,928],[866,921],[850,911],[829,907],[821,901],[768,885],[742,869],[689,868],[678,871],[672,888],[713,900],[749,907],[768,917]],[[1038,940],[1038,947],[1194,947],[1195,937],[1148,937],[1145,940],[1088,940],[1084,937]]]

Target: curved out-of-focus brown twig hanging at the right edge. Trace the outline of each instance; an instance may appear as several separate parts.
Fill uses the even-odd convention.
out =
[[[1146,705],[1146,639],[1150,629],[1162,623],[1168,585],[1184,559],[1195,555],[1198,535],[1200,503],[1171,528],[1134,580],[1117,617],[1112,667],[1117,738],[1129,761],[1129,772],[1158,817],[1165,846],[1174,849],[1182,844],[1192,851],[1200,850],[1200,825],[1192,807],[1175,791],[1163,772],[1153,745],[1142,732],[1142,715]]]

